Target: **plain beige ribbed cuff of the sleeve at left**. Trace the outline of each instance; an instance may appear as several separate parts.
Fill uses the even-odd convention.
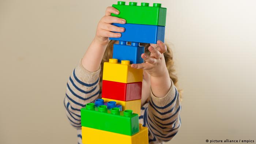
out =
[[[82,59],[81,59],[82,60]],[[99,79],[99,73],[101,72],[101,66],[99,66],[99,69],[95,72],[89,72],[87,69],[85,69],[81,63],[81,60],[79,62],[79,65],[75,68],[75,75],[76,77],[86,84],[92,84],[95,83]]]

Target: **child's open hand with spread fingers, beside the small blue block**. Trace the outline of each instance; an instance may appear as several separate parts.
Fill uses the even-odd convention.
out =
[[[132,68],[136,69],[144,69],[153,76],[153,77],[161,77],[168,73],[165,64],[165,58],[163,53],[166,52],[166,45],[162,41],[157,41],[157,44],[150,44],[148,50],[150,51],[150,56],[147,56],[145,53],[141,55],[141,57],[146,61],[141,64],[132,64]],[[169,75],[169,74],[168,74]]]

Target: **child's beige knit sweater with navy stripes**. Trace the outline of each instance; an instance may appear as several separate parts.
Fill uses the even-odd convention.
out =
[[[67,82],[64,106],[68,120],[77,129],[78,144],[82,144],[80,109],[86,103],[101,98],[100,70],[101,67],[95,72],[89,72],[80,62]],[[139,122],[148,128],[149,144],[161,144],[177,134],[181,126],[180,111],[180,98],[173,82],[163,98],[155,97],[151,91],[149,102],[142,106],[139,117]]]

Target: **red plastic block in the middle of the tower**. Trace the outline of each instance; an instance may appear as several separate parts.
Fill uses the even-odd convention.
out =
[[[141,99],[141,92],[142,82],[118,83],[108,80],[102,81],[102,98],[131,101]]]

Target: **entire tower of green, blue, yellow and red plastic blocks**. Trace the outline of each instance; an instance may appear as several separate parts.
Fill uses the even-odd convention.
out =
[[[148,129],[139,124],[143,70],[131,64],[143,62],[139,43],[164,42],[166,8],[161,4],[124,1],[113,4],[126,24],[113,23],[125,31],[114,44],[113,58],[103,65],[102,99],[81,109],[83,144],[148,144]],[[127,42],[131,42],[128,45]],[[99,138],[100,137],[100,138]]]

